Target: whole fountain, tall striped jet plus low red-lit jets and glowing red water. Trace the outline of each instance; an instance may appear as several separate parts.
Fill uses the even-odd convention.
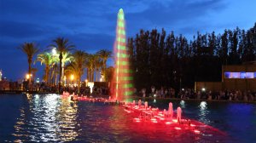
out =
[[[201,134],[205,134],[208,131],[218,131],[218,129],[214,129],[196,120],[188,119],[186,117],[182,118],[181,107],[177,107],[177,112],[174,112],[172,102],[169,103],[167,110],[160,110],[158,107],[150,106],[150,102],[145,100],[126,101],[128,98],[131,99],[129,95],[133,94],[134,90],[132,84],[133,77],[131,77],[131,70],[129,67],[129,54],[126,49],[125,15],[123,9],[119,9],[113,53],[115,66],[113,79],[110,85],[111,97],[109,99],[94,98],[91,96],[79,97],[78,95],[73,94],[73,100],[84,100],[93,103],[104,102],[104,104],[108,105],[117,105],[115,104],[115,101],[125,100],[125,105],[122,104],[122,106],[120,106],[124,107],[125,114],[117,112],[116,117],[123,117],[123,115],[130,114],[130,116],[127,116],[126,118],[131,119],[131,122],[126,123],[131,123],[129,126],[135,127],[131,129],[135,129],[134,131],[138,132],[138,134],[143,132],[151,133],[152,130],[155,129],[166,129],[166,133],[177,135],[189,133],[192,134],[192,136],[195,135],[195,139],[200,139],[199,137]],[[62,99],[69,97],[69,95],[70,94],[63,92]],[[175,116],[177,118],[175,118]],[[121,122],[123,122],[123,120],[120,120],[120,123]],[[111,121],[110,124],[114,129],[119,128],[119,120]],[[218,131],[218,133],[223,134],[221,131]]]

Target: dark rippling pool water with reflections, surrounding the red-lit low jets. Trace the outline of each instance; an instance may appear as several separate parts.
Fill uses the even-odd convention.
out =
[[[136,99],[138,100],[138,99]],[[131,99],[132,101],[132,99]],[[144,101],[144,100],[143,100]],[[147,100],[168,109],[171,100]],[[256,105],[172,100],[174,112],[200,121],[200,134],[183,126],[135,123],[122,106],[69,102],[57,94],[1,94],[0,142],[252,142],[256,140]],[[174,116],[175,118],[175,116]],[[212,129],[207,129],[210,125]]]

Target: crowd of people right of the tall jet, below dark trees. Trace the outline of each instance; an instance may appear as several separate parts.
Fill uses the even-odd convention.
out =
[[[142,89],[137,93],[141,97],[197,99],[197,100],[230,100],[230,101],[256,101],[256,92],[241,90],[207,91],[205,89],[195,91],[194,89],[180,89],[176,92],[173,88],[156,89],[154,86],[147,91]]]

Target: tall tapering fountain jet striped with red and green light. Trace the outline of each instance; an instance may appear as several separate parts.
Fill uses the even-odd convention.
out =
[[[125,100],[125,96],[133,94],[133,77],[131,77],[129,55],[126,49],[125,14],[123,9],[119,9],[113,52],[115,67],[111,83],[111,96],[113,100]]]

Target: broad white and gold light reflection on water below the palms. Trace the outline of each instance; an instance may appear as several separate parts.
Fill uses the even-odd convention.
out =
[[[19,141],[69,141],[74,140],[78,133],[77,105],[68,100],[60,100],[57,94],[26,94],[29,108],[20,109],[20,117],[15,123],[16,137]]]

